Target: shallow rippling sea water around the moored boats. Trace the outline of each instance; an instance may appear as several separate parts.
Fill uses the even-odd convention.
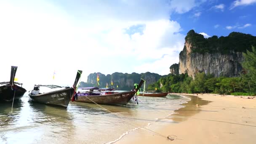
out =
[[[115,141],[134,128],[149,123],[172,123],[157,120],[167,117],[188,99],[168,95],[166,98],[139,96],[126,106],[70,102],[67,109],[38,104],[27,93],[20,101],[0,103],[0,144],[102,144]]]

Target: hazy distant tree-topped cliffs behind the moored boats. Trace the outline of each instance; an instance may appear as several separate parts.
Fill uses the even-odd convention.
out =
[[[151,73],[151,72],[146,72],[146,73],[120,73],[120,72],[115,72],[112,75],[104,75],[98,72],[99,78],[100,78],[100,85],[99,87],[105,88],[106,84],[108,83],[108,87],[113,87],[113,88],[118,88],[120,90],[131,90],[133,88],[134,83],[139,83],[140,79],[143,78],[146,80],[146,88],[149,84],[157,82],[157,80],[162,77],[161,75]],[[91,86],[97,86],[97,73],[91,73],[88,75],[87,78],[87,83],[81,82],[80,87],[91,87]],[[113,81],[114,85],[111,85],[111,80]]]

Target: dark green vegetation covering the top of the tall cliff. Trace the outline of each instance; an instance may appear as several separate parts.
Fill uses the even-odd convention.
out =
[[[203,35],[197,34],[194,30],[190,30],[185,40],[193,47],[192,53],[229,53],[229,51],[246,52],[251,51],[251,45],[256,45],[256,37],[241,32],[231,32],[227,37],[216,35],[204,38]],[[182,53],[186,51],[184,46]]]

